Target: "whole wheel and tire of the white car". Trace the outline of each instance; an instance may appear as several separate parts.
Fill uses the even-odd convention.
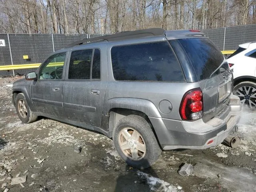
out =
[[[256,83],[241,82],[234,87],[233,94],[240,98],[243,108],[256,110]]]

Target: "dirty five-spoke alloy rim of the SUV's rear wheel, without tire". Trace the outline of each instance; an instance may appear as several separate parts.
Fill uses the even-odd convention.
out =
[[[146,154],[146,145],[142,136],[133,128],[124,128],[118,135],[122,152],[130,159],[138,161]]]

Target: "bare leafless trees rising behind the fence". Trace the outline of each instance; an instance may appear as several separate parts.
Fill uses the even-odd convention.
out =
[[[114,33],[256,23],[256,0],[0,0],[6,33]]]

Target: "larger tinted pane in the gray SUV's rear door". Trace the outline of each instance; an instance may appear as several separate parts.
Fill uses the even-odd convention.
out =
[[[90,68],[92,60],[92,49],[72,51],[68,78],[69,79],[90,79]]]

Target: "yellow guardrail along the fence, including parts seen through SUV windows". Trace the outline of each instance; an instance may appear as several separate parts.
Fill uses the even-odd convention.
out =
[[[234,53],[235,50],[231,51],[222,51],[222,54],[232,54]],[[77,64],[80,61],[74,62],[74,64]],[[33,63],[33,64],[20,64],[20,65],[2,65],[0,66],[0,70],[15,70],[15,69],[29,69],[29,68],[38,68],[41,63]],[[50,63],[48,66],[53,67],[53,66],[63,66],[64,62],[54,62]]]

